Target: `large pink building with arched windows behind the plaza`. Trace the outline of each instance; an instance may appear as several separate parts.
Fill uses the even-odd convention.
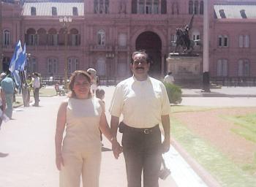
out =
[[[208,0],[210,76],[256,77],[255,0]],[[130,75],[130,55],[145,49],[154,64],[151,75],[167,72],[176,28],[195,14],[190,38],[203,39],[203,0],[3,0],[3,66],[15,42],[26,42],[29,72],[64,77],[94,67],[100,77]],[[59,18],[72,18],[65,29]],[[203,43],[203,42],[202,42]],[[202,56],[203,47],[195,46]]]

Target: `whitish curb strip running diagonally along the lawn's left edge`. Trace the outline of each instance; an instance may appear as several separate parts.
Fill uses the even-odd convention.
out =
[[[176,142],[173,138],[171,139],[171,145],[181,154],[181,156],[187,161],[187,163],[192,167],[192,169],[197,173],[197,175],[206,183],[209,187],[222,187],[219,182],[213,178],[200,164],[195,161],[189,154],[187,153],[181,145]]]

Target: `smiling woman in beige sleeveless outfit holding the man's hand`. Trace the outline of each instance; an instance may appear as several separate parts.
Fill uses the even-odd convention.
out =
[[[81,175],[83,186],[98,187],[102,148],[99,129],[112,142],[102,101],[91,97],[90,86],[90,75],[75,71],[69,83],[71,93],[59,107],[55,142],[61,187],[79,187]]]

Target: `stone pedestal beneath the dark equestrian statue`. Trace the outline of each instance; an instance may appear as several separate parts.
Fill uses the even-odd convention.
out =
[[[202,83],[202,57],[189,53],[170,53],[167,72],[173,72],[175,83],[200,85]]]

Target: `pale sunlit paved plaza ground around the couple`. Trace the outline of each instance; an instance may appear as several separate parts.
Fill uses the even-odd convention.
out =
[[[108,108],[114,87],[103,87],[106,91],[105,102]],[[244,91],[247,88],[241,88]],[[256,95],[256,88],[248,88],[249,93]],[[230,90],[227,90],[230,91]],[[205,97],[192,96],[200,94],[185,90],[181,104],[213,105],[213,106],[255,106],[256,97],[244,96]],[[240,91],[233,91],[238,93]],[[0,131],[0,186],[1,187],[57,187],[59,172],[55,166],[54,134],[56,113],[64,96],[41,97],[40,107],[18,107],[13,113],[14,120],[3,123]],[[110,115],[107,112],[108,121]],[[118,139],[121,135],[118,134]],[[102,169],[100,186],[127,186],[124,157],[116,160],[110,149],[110,143],[103,140],[105,151],[102,152]],[[173,145],[165,154],[167,166],[172,175],[167,180],[159,180],[159,186],[213,186],[215,181],[193,161],[189,161],[186,153],[178,145]],[[187,156],[188,157],[188,156]],[[188,161],[188,162],[187,162]],[[189,164],[188,164],[189,163]],[[194,165],[191,167],[191,165]],[[200,177],[194,169],[199,168]],[[193,169],[192,169],[193,168]],[[207,182],[203,182],[203,180]],[[186,183],[184,183],[186,178]]]

